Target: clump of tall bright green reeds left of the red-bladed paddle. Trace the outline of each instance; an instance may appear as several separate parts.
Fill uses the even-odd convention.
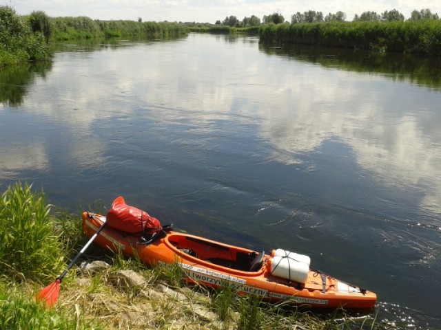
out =
[[[63,246],[54,236],[50,205],[31,186],[17,183],[1,195],[0,274],[42,282],[63,267]]]

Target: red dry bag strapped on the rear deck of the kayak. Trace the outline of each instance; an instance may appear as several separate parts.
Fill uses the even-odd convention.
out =
[[[158,219],[139,208],[128,206],[121,196],[112,203],[106,223],[110,228],[130,234],[152,235],[163,229]]]

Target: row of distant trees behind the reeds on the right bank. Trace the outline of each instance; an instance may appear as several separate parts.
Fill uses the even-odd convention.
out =
[[[338,11],[335,13],[329,12],[326,16],[322,12],[316,12],[315,10],[308,10],[307,12],[296,12],[291,15],[291,24],[296,23],[320,23],[320,22],[344,22],[346,21],[346,13]],[[407,21],[422,21],[422,20],[438,20],[438,14],[432,13],[430,9],[422,9],[420,11],[413,10],[411,16]],[[396,22],[405,21],[404,15],[398,10],[385,10],[378,14],[377,12],[363,12],[362,14],[356,14],[352,21],[357,22]],[[280,24],[289,23],[285,20],[280,12],[274,12],[273,14],[265,15],[260,21],[258,17],[252,15],[251,17],[244,17],[240,21],[236,16],[225,17],[223,21],[216,21],[216,25],[225,25],[234,28],[248,28],[252,26],[258,26],[260,24]]]

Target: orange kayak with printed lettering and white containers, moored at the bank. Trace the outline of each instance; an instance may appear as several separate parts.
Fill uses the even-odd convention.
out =
[[[83,212],[85,235],[92,237],[105,221],[105,216]],[[172,230],[146,244],[139,236],[108,226],[94,243],[129,256],[137,254],[146,265],[177,263],[189,281],[215,288],[229,285],[273,303],[287,300],[331,309],[371,309],[376,303],[373,292],[314,270],[309,257],[285,250],[265,254]]]

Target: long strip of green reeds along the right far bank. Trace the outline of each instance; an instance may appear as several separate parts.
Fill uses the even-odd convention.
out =
[[[262,41],[441,56],[441,20],[269,24]]]

